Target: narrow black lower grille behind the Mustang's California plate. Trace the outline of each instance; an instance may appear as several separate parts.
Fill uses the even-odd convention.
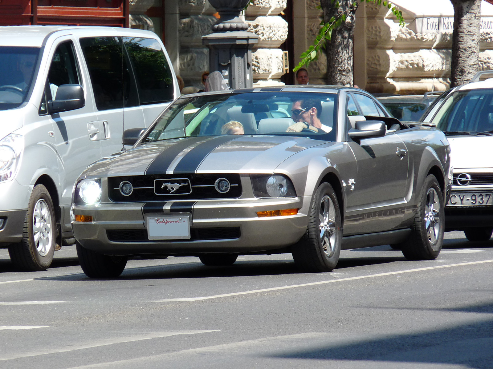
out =
[[[207,240],[231,240],[240,238],[240,227],[191,228],[188,240],[151,240],[147,238],[146,229],[106,230],[108,240],[112,242],[186,242]]]

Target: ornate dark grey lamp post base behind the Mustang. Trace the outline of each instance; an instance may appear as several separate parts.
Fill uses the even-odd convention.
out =
[[[231,89],[252,87],[251,49],[258,36],[246,31],[240,13],[249,0],[209,0],[220,18],[209,35],[202,37],[209,48],[209,71],[219,71]]]

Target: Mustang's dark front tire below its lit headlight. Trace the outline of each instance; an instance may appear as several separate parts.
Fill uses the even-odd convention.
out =
[[[122,274],[127,265],[127,256],[103,255],[75,243],[80,267],[90,278],[113,278]]]

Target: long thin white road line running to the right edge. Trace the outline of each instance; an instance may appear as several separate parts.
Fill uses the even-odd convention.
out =
[[[269,292],[269,291],[285,290],[285,289],[288,289],[288,288],[316,286],[316,285],[319,285],[319,284],[344,282],[344,281],[347,281],[347,280],[356,280],[356,279],[373,278],[373,277],[385,277],[385,276],[392,276],[392,275],[395,275],[395,274],[402,274],[402,273],[422,272],[422,271],[425,271],[425,270],[450,268],[450,267],[460,267],[460,266],[464,266],[464,265],[474,265],[474,264],[484,264],[484,263],[493,263],[493,259],[490,259],[490,260],[481,260],[481,261],[472,261],[472,262],[465,262],[465,263],[458,263],[458,264],[438,265],[438,266],[434,266],[434,267],[408,269],[408,270],[402,270],[402,271],[397,271],[397,272],[378,273],[378,274],[372,274],[372,275],[369,275],[369,276],[348,277],[348,278],[340,278],[340,279],[332,279],[332,280],[321,280],[321,281],[318,281],[318,282],[303,283],[303,284],[293,284],[293,285],[290,285],[290,286],[282,286],[282,287],[263,288],[263,289],[259,289],[259,290],[251,290],[251,291],[244,291],[244,292],[225,293],[225,294],[213,295],[213,296],[184,297],[184,298],[177,298],[177,299],[156,300],[156,301],[153,301],[153,302],[155,302],[155,303],[168,303],[168,302],[175,302],[175,301],[200,301],[200,300],[209,300],[209,299],[217,299],[217,298],[220,298],[220,297],[248,295],[248,294],[259,293],[259,292]]]

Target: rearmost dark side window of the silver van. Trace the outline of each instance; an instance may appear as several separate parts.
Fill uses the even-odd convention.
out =
[[[173,75],[159,42],[153,38],[123,37],[133,64],[141,104],[173,100]]]

